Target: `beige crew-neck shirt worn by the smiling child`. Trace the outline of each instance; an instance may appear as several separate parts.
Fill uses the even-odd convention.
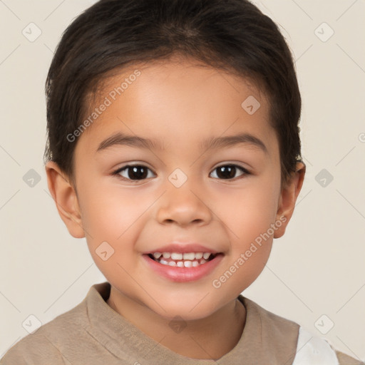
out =
[[[238,297],[246,324],[237,345],[219,360],[191,359],[158,344],[108,306],[110,284],[94,284],[83,302],[17,342],[1,365],[290,365],[299,324]],[[340,365],[360,361],[336,351]],[[364,364],[364,363],[362,363]]]

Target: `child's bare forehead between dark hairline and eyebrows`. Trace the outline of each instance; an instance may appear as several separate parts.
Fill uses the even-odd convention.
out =
[[[202,145],[203,137],[242,130],[269,143],[273,134],[267,97],[255,83],[187,59],[114,70],[86,103],[84,117],[92,123],[81,140],[87,139],[94,152],[102,138],[117,130],[152,138],[156,145],[163,141],[164,146],[178,145],[184,138]]]

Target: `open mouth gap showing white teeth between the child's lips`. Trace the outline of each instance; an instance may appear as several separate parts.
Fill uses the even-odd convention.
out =
[[[197,267],[212,261],[217,255],[222,254],[212,254],[212,252],[155,252],[153,254],[148,254],[148,257],[163,265],[173,267]]]

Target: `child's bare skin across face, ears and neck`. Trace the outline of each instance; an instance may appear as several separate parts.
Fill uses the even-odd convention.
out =
[[[96,265],[111,284],[108,305],[163,346],[195,359],[219,359],[233,349],[245,327],[237,296],[264,268],[273,238],[284,235],[302,188],[305,166],[281,185],[279,143],[269,125],[269,103],[247,80],[187,59],[133,66],[103,84],[101,99],[138,68],[141,75],[89,126],[75,150],[76,186],[53,162],[48,187],[73,237],[86,237]],[[261,104],[253,115],[241,106],[248,96]],[[99,102],[92,108],[100,106]],[[96,152],[115,132],[160,140],[164,149],[114,145]],[[222,135],[251,133],[267,153],[251,144],[202,150],[199,143]],[[144,165],[148,177],[133,183],[113,172]],[[234,163],[233,179],[217,167]],[[168,177],[179,168],[181,187]],[[128,170],[124,170],[128,178]],[[133,174],[132,174],[133,176]],[[212,281],[237,262],[260,234],[285,217],[269,239],[216,289]],[[195,282],[177,283],[151,270],[142,253],[172,240],[202,242],[222,252],[220,264]],[[103,261],[101,242],[115,250]],[[175,333],[175,316],[187,327]]]

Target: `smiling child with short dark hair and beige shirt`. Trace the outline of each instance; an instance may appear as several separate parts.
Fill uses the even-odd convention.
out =
[[[0,364],[360,364],[242,296],[302,187],[301,98],[247,0],[101,0],[46,83],[48,187],[108,282]]]

